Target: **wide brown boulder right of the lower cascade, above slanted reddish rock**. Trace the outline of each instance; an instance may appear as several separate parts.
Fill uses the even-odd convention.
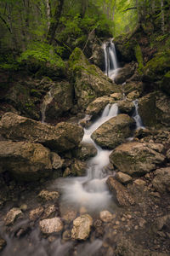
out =
[[[155,144],[162,147],[161,144]],[[121,172],[131,176],[143,175],[156,169],[165,160],[163,154],[153,148],[153,143],[123,143],[110,155],[111,163]]]

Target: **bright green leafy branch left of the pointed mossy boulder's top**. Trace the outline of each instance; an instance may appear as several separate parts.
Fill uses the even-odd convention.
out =
[[[53,45],[33,42],[28,46],[28,49],[20,55],[18,61],[26,61],[31,57],[40,62],[49,62],[58,67],[64,67],[64,61],[62,61],[61,57],[57,54],[59,52],[62,52],[62,48],[55,50]]]

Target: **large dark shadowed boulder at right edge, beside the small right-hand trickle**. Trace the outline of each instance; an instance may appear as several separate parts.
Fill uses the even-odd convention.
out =
[[[139,99],[139,115],[144,126],[161,128],[170,125],[170,96],[160,91],[152,92]]]

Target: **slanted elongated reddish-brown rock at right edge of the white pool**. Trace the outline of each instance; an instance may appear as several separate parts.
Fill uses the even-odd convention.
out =
[[[116,200],[121,207],[129,207],[135,203],[128,190],[121,183],[116,181],[114,177],[109,177],[106,183],[111,192],[116,195]]]

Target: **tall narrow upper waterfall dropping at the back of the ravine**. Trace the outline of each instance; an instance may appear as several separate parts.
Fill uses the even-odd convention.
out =
[[[115,44],[111,41],[103,44],[105,53],[105,74],[114,80],[118,71]]]

